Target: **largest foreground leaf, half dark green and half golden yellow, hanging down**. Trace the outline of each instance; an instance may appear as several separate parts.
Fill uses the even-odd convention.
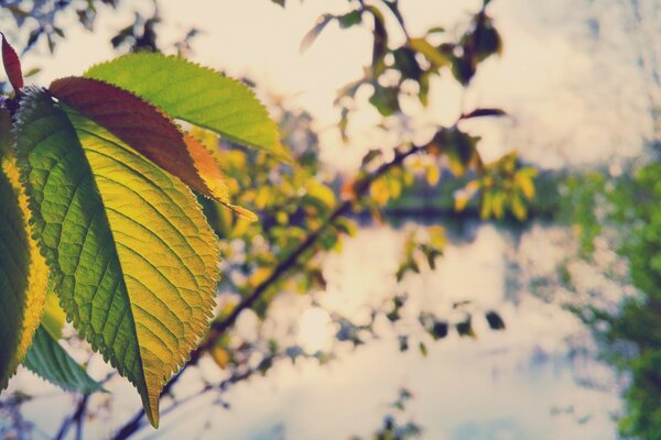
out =
[[[53,287],[158,426],[161,389],[212,315],[215,235],[186,186],[44,90],[24,95],[18,134]]]

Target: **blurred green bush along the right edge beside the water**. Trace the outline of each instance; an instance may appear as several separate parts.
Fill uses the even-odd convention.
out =
[[[590,308],[589,322],[603,338],[605,353],[631,375],[625,393],[624,436],[661,439],[661,163],[608,179],[590,173],[567,179],[570,220],[581,238],[581,254],[595,252],[595,238],[619,231],[618,253],[629,264],[639,295],[626,297],[617,311]],[[597,251],[598,252],[598,251]]]

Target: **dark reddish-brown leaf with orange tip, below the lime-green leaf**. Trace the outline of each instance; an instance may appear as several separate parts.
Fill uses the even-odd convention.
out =
[[[184,140],[172,121],[133,94],[76,77],[57,79],[48,90],[184,184],[220,202],[229,201],[225,178],[206,148]]]

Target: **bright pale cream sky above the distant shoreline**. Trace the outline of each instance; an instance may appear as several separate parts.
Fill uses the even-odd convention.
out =
[[[470,1],[402,0],[411,34],[432,25],[451,32],[480,3]],[[636,64],[628,15],[614,0],[597,2],[554,0],[498,0],[490,8],[505,41],[505,53],[485,63],[465,107],[501,107],[510,120],[470,122],[468,130],[484,135],[480,148],[487,158],[517,148],[543,166],[610,161],[639,152],[641,134],[650,133],[643,78]],[[58,47],[56,57],[35,51],[26,65],[45,67],[41,81],[80,74],[94,63],[112,57],[109,32],[117,31],[140,4],[124,1],[123,14],[106,15],[93,35],[78,28]],[[335,23],[305,54],[300,42],[325,12],[346,11],[346,0],[289,1],[286,10],[269,0],[163,0],[166,23],[163,41],[181,37],[195,26],[194,59],[230,75],[247,75],[260,88],[285,103],[310,110],[322,134],[324,158],[340,169],[356,166],[366,150],[391,146],[392,134],[373,128],[379,117],[365,106],[353,122],[353,141],[339,142],[334,125],[338,112],[333,100],[338,88],[357,79],[369,63],[371,41],[365,29],[340,30]],[[185,4],[185,7],[183,7]],[[603,20],[602,40],[589,33],[588,19]],[[397,29],[397,26],[392,26]],[[402,35],[393,33],[397,43]],[[635,47],[633,47],[635,48]],[[41,48],[42,53],[44,47]],[[367,97],[362,97],[364,102]],[[432,87],[432,102],[421,109],[404,102],[414,116],[415,141],[423,142],[437,123],[451,123],[462,110],[462,91],[452,80]],[[397,121],[391,122],[397,127]]]

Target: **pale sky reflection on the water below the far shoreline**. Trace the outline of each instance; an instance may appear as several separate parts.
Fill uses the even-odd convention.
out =
[[[314,298],[282,294],[273,305],[272,320],[281,327],[297,326],[296,339],[305,350],[335,344],[335,360],[325,365],[316,360],[281,361],[267,376],[230,388],[224,395],[229,409],[203,397],[163,417],[159,431],[148,428],[139,438],[156,433],[158,438],[188,438],[191,432],[201,438],[218,438],[221,432],[228,439],[367,437],[381,425],[391,409],[388,404],[402,387],[413,398],[398,417],[421,425],[423,438],[615,438],[611,414],[619,409],[619,388],[614,373],[594,359],[587,329],[559,304],[538,298],[525,283],[511,280],[533,266],[545,270],[533,264],[532,250],[542,244],[539,262],[551,267],[556,232],[539,227],[524,232],[519,239],[528,266],[512,274],[511,237],[492,226],[474,228],[464,235],[470,241],[455,240],[447,246],[436,271],[397,284],[392,274],[404,232],[389,227],[365,229],[340,254],[328,257],[326,292]],[[334,342],[337,327],[329,314],[360,322],[393,293],[409,295],[397,324],[377,320],[378,339],[357,349]],[[457,302],[465,304],[457,308]],[[484,314],[478,314],[485,310],[498,311],[506,329],[490,330]],[[446,317],[451,323],[470,311],[476,337],[460,338],[451,326],[447,338],[434,342],[416,324],[421,311]],[[237,331],[249,336],[254,322],[247,315]],[[273,334],[279,331],[274,323],[268,326],[273,326],[268,330]],[[407,352],[400,352],[402,332],[411,340]],[[419,340],[426,344],[426,356],[413,343]],[[93,373],[102,375],[98,370]],[[175,393],[185,397],[199,389],[201,378],[217,375],[213,361],[205,359]],[[54,393],[36,385],[26,372],[21,372],[14,386]],[[115,396],[112,419],[88,424],[90,437],[107,436],[139,405],[122,381],[111,382],[109,388]],[[69,397],[54,396],[26,408],[44,437],[59,422],[59,410],[53,406],[71,407]]]

